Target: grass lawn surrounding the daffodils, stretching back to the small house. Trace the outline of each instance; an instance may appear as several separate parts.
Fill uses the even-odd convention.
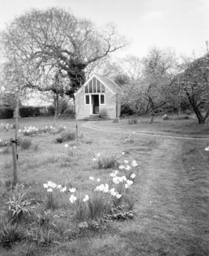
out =
[[[138,124],[133,125],[128,125],[127,119],[119,124],[112,121],[94,124],[118,131],[208,134],[208,124],[197,126],[193,120],[177,122],[156,118],[153,125],[149,125],[148,121],[148,118],[138,118]],[[12,124],[13,120],[2,122]],[[52,124],[52,118],[20,120],[20,127]],[[57,120],[57,127],[61,124],[71,131],[75,130],[73,120]],[[0,246],[0,255],[209,255],[209,152],[204,150],[209,145],[209,139],[180,140],[95,131],[82,127],[82,122],[78,122],[78,131],[78,143],[76,140],[68,141],[69,147],[76,147],[69,161],[63,158],[68,148],[64,147],[64,143],[55,143],[59,134],[32,136],[29,149],[18,147],[18,178],[20,184],[24,184],[21,189],[29,191],[40,202],[40,209],[46,207],[47,193],[43,183],[47,180],[76,188],[82,195],[92,195],[97,186],[95,179],[105,182],[113,168],[101,170],[91,157],[97,153],[116,154],[120,164],[124,160],[131,163],[133,159],[138,163],[134,169],[136,179],[129,189],[129,195],[133,195],[135,201],[134,218],[113,220],[105,230],[77,232],[77,236],[61,243],[42,246],[37,254],[23,252],[23,240],[11,248]],[[2,131],[0,138],[12,138],[13,134],[13,129]],[[119,170],[119,175],[122,174],[124,172]],[[90,176],[95,179],[90,180]],[[0,177],[0,207],[5,210],[5,202],[11,195],[11,191],[6,191],[4,186],[6,180],[12,179],[11,152],[0,153]],[[78,230],[78,223],[73,217],[75,210],[69,202],[70,195],[60,193],[59,208],[52,211],[52,214],[60,216],[56,222],[60,230]]]

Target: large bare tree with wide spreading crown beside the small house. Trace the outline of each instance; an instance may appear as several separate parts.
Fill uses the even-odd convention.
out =
[[[15,18],[1,33],[6,58],[25,70],[25,86],[54,90],[48,83],[57,72],[68,77],[66,95],[73,97],[85,81],[85,68],[127,45],[115,26],[98,29],[62,8],[30,10]],[[27,63],[27,67],[24,67]],[[28,65],[29,64],[29,65]]]

